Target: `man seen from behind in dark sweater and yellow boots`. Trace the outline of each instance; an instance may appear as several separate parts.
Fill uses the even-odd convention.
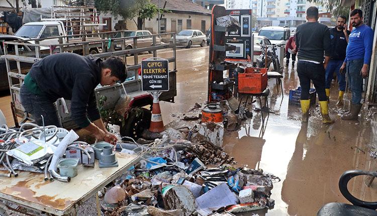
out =
[[[297,27],[296,46],[298,50],[297,73],[301,85],[302,121],[309,120],[310,80],[316,88],[322,113],[322,123],[334,123],[329,117],[328,101],[325,91],[325,68],[331,56],[330,31],[318,23],[318,9],[309,7],[306,11],[307,23]],[[323,53],[325,62],[323,63]]]

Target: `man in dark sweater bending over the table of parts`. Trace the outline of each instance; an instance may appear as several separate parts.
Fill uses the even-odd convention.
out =
[[[98,84],[114,85],[126,79],[125,62],[111,56],[100,58],[74,53],[58,53],[33,64],[21,86],[20,97],[25,112],[39,126],[60,127],[54,102],[63,97],[71,100],[71,118],[81,128],[93,133],[98,140],[117,139],[101,120],[94,89]]]

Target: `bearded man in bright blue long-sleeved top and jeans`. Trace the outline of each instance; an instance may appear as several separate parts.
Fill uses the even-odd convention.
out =
[[[340,72],[347,71],[348,83],[352,91],[352,103],[343,120],[356,120],[361,110],[362,79],[368,76],[368,66],[372,53],[373,30],[362,23],[362,11],[355,9],[350,14],[350,23],[354,27],[348,38],[346,58]]]

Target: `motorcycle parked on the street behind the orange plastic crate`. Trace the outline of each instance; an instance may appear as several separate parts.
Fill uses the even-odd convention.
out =
[[[273,71],[281,72],[282,67],[279,63],[279,58],[276,55],[276,47],[281,47],[284,45],[260,45],[260,48],[262,50],[262,54],[259,55],[259,57],[256,59],[256,65],[259,68],[269,68],[271,62],[273,64]],[[268,49],[268,48],[271,49]],[[267,55],[266,55],[266,48],[267,48]],[[265,60],[267,59],[267,60]],[[265,65],[266,63],[266,65]]]

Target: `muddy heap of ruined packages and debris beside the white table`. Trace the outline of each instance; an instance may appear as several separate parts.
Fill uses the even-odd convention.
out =
[[[114,180],[115,189],[109,187],[108,204],[101,206],[105,215],[222,215],[273,207],[270,195],[278,177],[237,168],[221,147],[185,140],[195,137],[190,131],[167,131],[171,136],[144,145],[117,144],[117,150],[141,159]]]

